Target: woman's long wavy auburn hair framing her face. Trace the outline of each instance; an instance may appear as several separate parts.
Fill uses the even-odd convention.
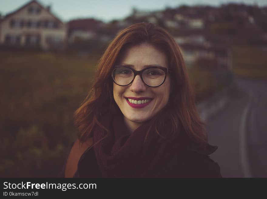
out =
[[[104,131],[101,116],[120,112],[113,98],[111,70],[122,49],[128,46],[148,43],[164,52],[171,70],[171,92],[167,105],[151,119],[154,129],[162,139],[171,139],[184,132],[201,145],[208,143],[205,123],[201,121],[195,105],[195,97],[179,46],[163,28],[152,23],[137,23],[120,31],[109,44],[95,71],[90,92],[74,113],[74,124],[78,129],[80,142],[92,137],[96,125]],[[120,112],[121,113],[121,112]],[[166,128],[170,131],[166,132]],[[147,131],[147,134],[149,131]],[[147,135],[146,135],[147,136]]]

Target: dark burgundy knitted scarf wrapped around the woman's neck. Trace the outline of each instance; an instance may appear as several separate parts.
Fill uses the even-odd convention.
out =
[[[106,132],[98,126],[93,133],[95,143],[101,140],[94,145],[94,152],[102,177],[177,177],[177,157],[190,146],[182,133],[177,139],[159,144],[152,128],[144,143],[150,122],[131,134],[122,116],[106,115],[103,124],[111,130],[108,137],[101,140]]]

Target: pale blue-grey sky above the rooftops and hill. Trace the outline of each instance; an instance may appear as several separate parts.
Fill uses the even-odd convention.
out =
[[[0,0],[2,16],[13,12],[30,0]],[[228,2],[267,6],[267,0],[38,0],[43,6],[51,6],[52,13],[67,22],[71,19],[95,18],[104,22],[129,16],[132,8],[138,10],[163,10],[180,5],[219,6]]]

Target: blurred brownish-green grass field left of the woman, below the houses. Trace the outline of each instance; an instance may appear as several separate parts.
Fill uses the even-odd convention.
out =
[[[75,138],[73,112],[97,59],[50,53],[0,54],[1,162],[4,177],[52,177]]]

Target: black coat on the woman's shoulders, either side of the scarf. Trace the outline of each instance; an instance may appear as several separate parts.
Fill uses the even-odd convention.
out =
[[[174,170],[173,176],[179,178],[221,178],[220,167],[218,163],[211,160],[209,154],[217,150],[217,146],[209,145],[205,150],[197,149],[194,146],[186,147],[181,153],[177,153],[173,159],[165,165],[163,170]],[[58,177],[64,177],[65,165]],[[88,174],[88,170],[94,171]],[[93,174],[92,174],[93,173]],[[169,173],[169,172],[167,172]],[[155,174],[153,177],[165,176],[164,173]],[[78,169],[73,177],[100,178],[96,157],[93,148],[86,150],[78,162]]]

